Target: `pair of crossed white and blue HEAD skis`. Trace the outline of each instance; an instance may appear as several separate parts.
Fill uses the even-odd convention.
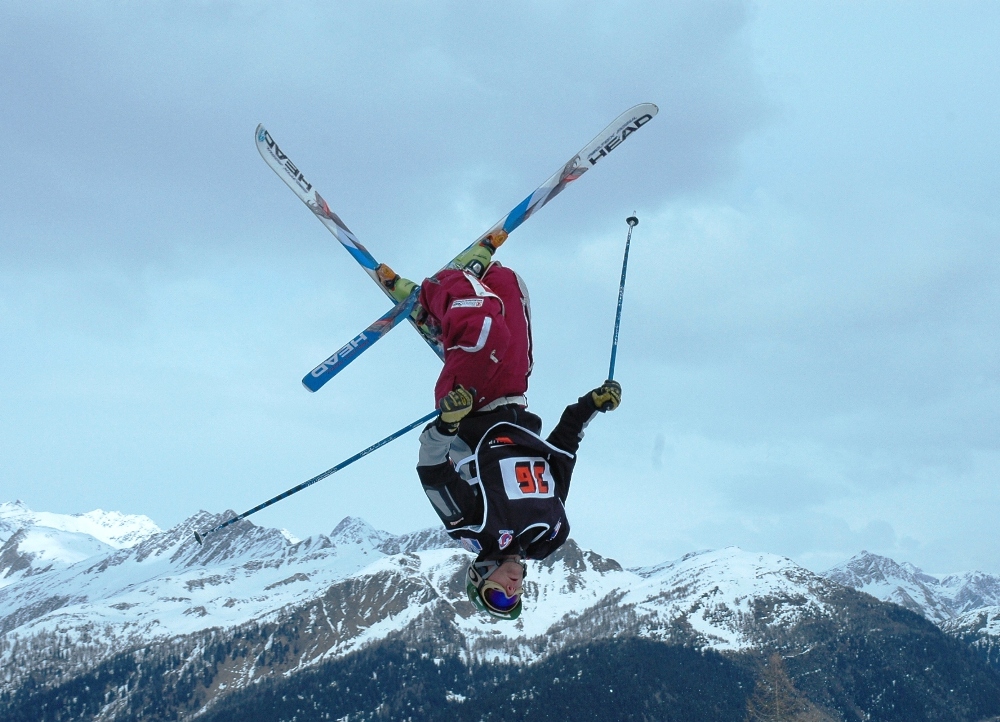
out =
[[[552,174],[552,176],[536,188],[527,198],[515,206],[510,213],[497,221],[488,231],[469,244],[467,248],[455,256],[455,258],[441,270],[446,268],[457,268],[458,260],[465,257],[469,251],[479,244],[486,243],[493,249],[498,247],[504,242],[504,240],[506,240],[507,236],[512,231],[524,223],[524,221],[526,221],[537,210],[559,195],[566,188],[566,186],[586,173],[590,168],[596,165],[599,160],[607,156],[611,153],[611,151],[623,143],[632,133],[636,132],[639,128],[652,120],[658,110],[659,109],[652,103],[642,103],[629,108],[624,113],[619,115],[604,130],[598,133],[594,139],[590,141],[590,143],[584,146],[579,153],[573,156],[569,162]],[[313,188],[312,184],[305,179],[302,171],[300,171],[298,167],[288,158],[288,156],[281,151],[277,143],[274,142],[274,139],[263,125],[257,126],[256,139],[257,150],[260,152],[261,156],[271,169],[278,174],[285,184],[291,188],[292,191],[302,200],[302,202],[305,203],[306,206],[309,207],[309,209],[316,215],[316,217],[323,222],[323,225],[325,225],[330,232],[333,233],[337,240],[340,241],[341,245],[347,249],[351,256],[353,256],[361,267],[365,269],[368,275],[371,276],[372,280],[378,284],[379,288],[381,288],[386,295],[391,297],[389,290],[386,289],[378,280],[377,269],[380,265],[378,261],[376,261],[371,253],[369,253],[368,249],[361,245],[344,222],[340,220],[337,214],[330,210],[329,205],[327,205],[326,201],[323,200],[323,197],[320,196],[319,192]],[[397,311],[398,309],[404,307],[409,301],[409,298],[406,299],[406,301],[398,304],[392,311],[372,324],[369,329],[374,328],[381,323],[384,330],[377,335],[370,336],[370,340],[367,340],[363,344],[353,347],[347,356],[349,360],[346,363],[335,363],[331,365],[329,364],[329,361],[337,358],[341,351],[344,351],[348,348],[348,346],[351,346],[354,342],[353,340],[347,346],[343,347],[340,351],[331,356],[330,359],[327,359],[327,361],[320,364],[320,366],[317,366],[316,369],[310,372],[303,379],[303,385],[310,391],[316,391],[323,384],[333,378],[333,376],[339,373],[339,371],[344,368],[347,363],[360,355],[364,350],[375,343],[375,341],[387,333],[389,329],[399,323],[399,320],[402,318],[402,314],[397,314]],[[412,308],[413,304],[410,304],[409,309],[412,310]],[[394,319],[390,325],[386,325],[386,322],[384,321],[384,319],[387,318]],[[411,322],[413,321],[412,318],[410,320]],[[417,328],[418,332],[421,333],[421,336],[424,337],[424,340],[431,345],[432,348],[434,348],[438,356],[443,358],[443,352],[440,348],[440,344],[438,344],[436,340],[425,336],[423,332],[420,331],[420,327],[415,323],[413,325]],[[360,334],[355,340],[364,335],[364,333]],[[325,370],[316,376],[315,374],[317,371],[320,371],[320,369]],[[310,380],[308,383],[307,379]]]

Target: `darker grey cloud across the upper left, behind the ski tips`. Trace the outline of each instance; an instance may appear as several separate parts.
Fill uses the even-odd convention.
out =
[[[456,194],[504,212],[629,104],[663,108],[643,151],[656,162],[609,166],[608,204],[725,177],[764,112],[743,3],[5,14],[0,92],[17,143],[3,220],[19,232],[3,248],[43,264],[95,253],[141,264],[179,244],[279,233],[293,212],[250,145],[258,121],[391,251],[415,227],[447,232]],[[470,171],[483,180],[463,188]],[[567,198],[564,217],[586,208]]]

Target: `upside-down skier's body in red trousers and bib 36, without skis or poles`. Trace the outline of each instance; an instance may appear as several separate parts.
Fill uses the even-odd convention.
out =
[[[500,241],[502,242],[502,240]],[[527,410],[531,309],[524,282],[493,262],[484,243],[421,284],[416,320],[444,348],[434,389],[440,416],[420,435],[417,474],[447,533],[476,554],[466,592],[481,611],[516,619],[527,559],[544,559],[569,537],[565,503],[584,428],[621,401],[606,381],[566,407],[543,439]],[[405,298],[415,284],[383,266]]]

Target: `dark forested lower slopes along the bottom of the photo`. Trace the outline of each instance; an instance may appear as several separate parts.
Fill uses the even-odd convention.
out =
[[[67,672],[61,658],[74,653],[59,648],[51,674],[34,670],[0,694],[0,720],[183,720],[196,712],[206,722],[1000,716],[1000,673],[968,645],[866,595],[844,590],[833,602],[830,613],[794,628],[768,628],[759,651],[726,655],[625,638],[580,643],[533,664],[468,663],[454,629],[434,619],[304,668],[303,660],[315,657],[303,650],[315,652],[318,636],[302,619],[123,651],[83,674]],[[671,638],[690,638],[682,632]],[[501,647],[492,658],[510,659]]]

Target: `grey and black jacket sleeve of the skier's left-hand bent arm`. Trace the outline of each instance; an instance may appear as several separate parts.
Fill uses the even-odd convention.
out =
[[[479,523],[483,515],[478,487],[470,486],[448,458],[454,439],[454,435],[443,433],[431,423],[420,434],[417,461],[420,484],[446,529]]]

